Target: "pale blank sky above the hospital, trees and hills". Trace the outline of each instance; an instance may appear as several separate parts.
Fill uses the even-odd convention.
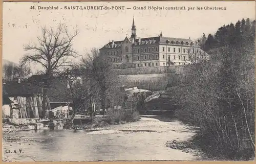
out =
[[[34,6],[35,9],[30,9]],[[58,10],[38,10],[38,6]],[[124,10],[65,10],[65,6],[124,6]],[[133,7],[146,10],[134,10]],[[164,10],[149,10],[164,7]],[[185,7],[186,10],[166,10]],[[194,10],[189,10],[188,7]],[[226,10],[197,10],[197,7],[226,7]],[[61,8],[61,9],[60,9]],[[131,8],[131,9],[126,9]],[[36,42],[42,26],[66,24],[70,32],[80,31],[73,48],[85,54],[101,48],[109,40],[123,40],[131,35],[133,17],[137,37],[159,36],[197,39],[214,33],[223,25],[242,18],[255,19],[255,2],[4,2],[3,59],[18,63],[26,54],[24,45]]]

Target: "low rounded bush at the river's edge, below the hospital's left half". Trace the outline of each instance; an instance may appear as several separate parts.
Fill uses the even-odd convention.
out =
[[[124,122],[134,122],[140,119],[138,111],[125,109],[110,109],[106,113],[106,122],[109,124],[120,124]]]

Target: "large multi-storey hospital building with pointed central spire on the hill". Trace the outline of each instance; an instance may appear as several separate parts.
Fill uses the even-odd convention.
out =
[[[131,37],[126,36],[122,41],[112,40],[99,51],[115,67],[185,65],[199,62],[207,55],[198,42],[190,39],[163,37],[162,32],[156,37],[137,37],[134,19]]]

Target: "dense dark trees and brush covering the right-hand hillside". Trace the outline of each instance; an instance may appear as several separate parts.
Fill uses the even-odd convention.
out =
[[[196,143],[212,159],[255,155],[255,20],[218,29],[202,45],[210,60],[188,65],[173,83],[183,122],[200,127]]]

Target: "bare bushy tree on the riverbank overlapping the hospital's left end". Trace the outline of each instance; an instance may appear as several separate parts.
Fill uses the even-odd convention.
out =
[[[87,58],[82,59],[82,64],[88,72],[90,81],[97,84],[104,115],[106,98],[109,96],[108,90],[117,82],[113,63],[108,61],[106,56],[99,54],[97,49],[92,49],[91,54],[87,54]]]

